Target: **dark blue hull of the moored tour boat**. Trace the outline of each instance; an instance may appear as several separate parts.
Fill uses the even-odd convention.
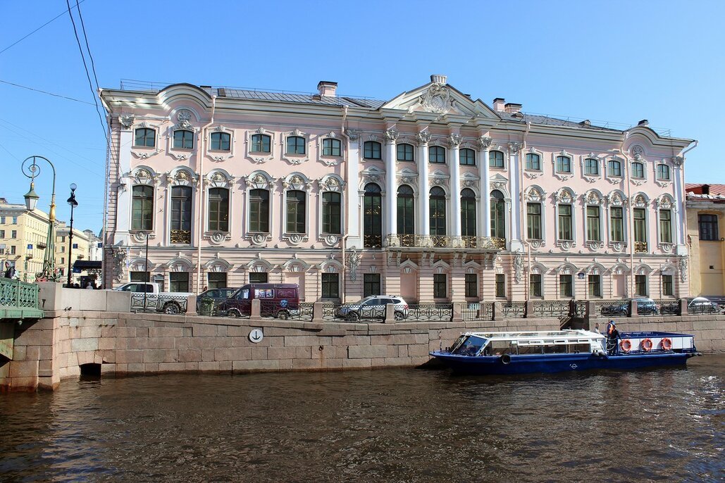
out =
[[[644,353],[607,356],[597,353],[566,353],[510,356],[458,356],[436,350],[431,356],[457,374],[531,374],[592,369],[642,369],[684,366],[695,353]]]

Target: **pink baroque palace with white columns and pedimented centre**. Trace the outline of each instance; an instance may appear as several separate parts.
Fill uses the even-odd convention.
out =
[[[104,280],[291,282],[305,301],[688,295],[692,140],[488,105],[443,75],[389,101],[336,87],[101,91]]]

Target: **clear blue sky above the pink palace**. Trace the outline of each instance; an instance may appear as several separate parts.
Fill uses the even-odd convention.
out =
[[[66,9],[0,0],[0,196],[22,203],[20,164],[45,156],[57,217],[69,219],[75,182],[75,226],[97,232],[105,139],[70,17],[17,42]],[[487,104],[503,97],[619,128],[649,119],[700,141],[687,182],[725,182],[723,1],[83,0],[80,12],[101,88],[133,79],[312,92],[333,80],[338,93],[388,99],[439,73]],[[49,169],[36,190],[47,209]]]

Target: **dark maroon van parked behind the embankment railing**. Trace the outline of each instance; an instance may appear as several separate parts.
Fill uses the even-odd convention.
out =
[[[252,314],[252,301],[260,301],[260,314],[277,319],[289,319],[291,311],[299,310],[299,287],[296,283],[250,283],[229,295],[219,304],[218,311],[228,317]]]

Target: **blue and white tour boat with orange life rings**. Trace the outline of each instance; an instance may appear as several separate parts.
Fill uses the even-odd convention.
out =
[[[587,330],[465,332],[450,348],[431,352],[461,374],[528,374],[684,365],[699,356],[692,335],[620,332],[616,346]]]

